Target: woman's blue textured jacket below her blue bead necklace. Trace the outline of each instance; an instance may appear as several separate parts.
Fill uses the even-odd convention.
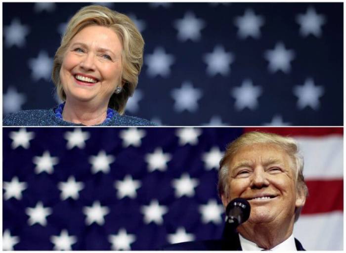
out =
[[[154,123],[131,116],[121,116],[114,111],[113,117],[97,126],[156,126]],[[26,110],[6,116],[3,126],[83,126],[72,122],[63,121],[55,116],[54,109]]]

